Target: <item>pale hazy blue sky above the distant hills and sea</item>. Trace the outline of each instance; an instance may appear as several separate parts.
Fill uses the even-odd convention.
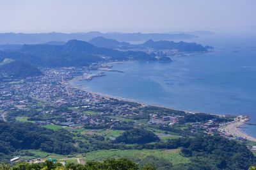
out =
[[[193,31],[256,25],[256,0],[0,0],[0,32]]]

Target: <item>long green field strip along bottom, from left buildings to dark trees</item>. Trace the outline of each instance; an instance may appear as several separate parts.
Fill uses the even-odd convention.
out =
[[[77,158],[80,158],[80,161],[102,161],[107,158],[129,158],[135,162],[140,162],[143,158],[147,156],[154,156],[157,158],[165,158],[175,164],[187,164],[189,163],[189,158],[182,157],[178,150],[99,150],[92,151],[88,153],[78,154],[78,155],[58,155],[55,153],[47,153],[40,150],[22,150],[29,152],[31,156],[17,155],[20,158],[32,159],[32,158],[41,158],[42,160],[57,159],[58,162],[73,162],[77,163]]]

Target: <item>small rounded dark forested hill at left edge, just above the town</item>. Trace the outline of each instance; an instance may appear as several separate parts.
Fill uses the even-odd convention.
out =
[[[38,68],[24,60],[6,63],[5,65],[0,66],[0,72],[4,72],[9,76],[20,78],[42,75],[42,72],[38,70]]]

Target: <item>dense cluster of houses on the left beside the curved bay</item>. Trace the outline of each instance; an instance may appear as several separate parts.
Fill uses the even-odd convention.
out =
[[[83,71],[83,69],[81,69]],[[118,116],[125,118],[142,114],[138,109],[145,105],[132,105],[129,102],[116,102],[113,98],[101,97],[88,93],[78,88],[68,86],[66,83],[74,77],[81,75],[80,70],[74,68],[44,69],[44,75],[30,77],[18,84],[8,84],[0,82],[0,114],[3,119],[8,111],[18,109],[23,111],[36,111],[42,117],[47,115],[60,114],[58,107],[66,104],[72,107],[72,111],[61,112],[61,121],[36,121],[36,125],[61,125],[63,127],[79,127],[83,124],[99,125],[111,123],[118,125]],[[30,98],[30,99],[29,99]],[[35,100],[31,100],[31,98]],[[38,109],[38,101],[42,101],[44,106],[52,106],[57,109]],[[51,108],[52,108],[51,107]],[[42,108],[42,107],[40,107]],[[102,110],[101,112],[98,112]],[[137,111],[136,111],[137,110]],[[97,111],[100,116],[84,114],[84,111]],[[115,118],[108,118],[115,116]]]

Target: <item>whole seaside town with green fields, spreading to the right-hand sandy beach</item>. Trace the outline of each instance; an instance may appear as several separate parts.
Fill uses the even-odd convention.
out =
[[[70,85],[71,81],[91,81],[105,76],[88,68],[45,68],[44,75],[26,79],[6,79],[0,86],[0,120],[28,121],[46,128],[65,128],[73,133],[107,135],[113,130],[147,127],[158,137],[184,135],[221,135],[228,139],[255,141],[237,129],[247,117],[218,115],[211,119],[191,121],[199,114],[102,96]],[[98,70],[93,67],[93,70]],[[111,68],[100,68],[111,70]],[[186,117],[188,117],[186,119]],[[235,119],[234,119],[235,118]],[[239,124],[237,124],[239,123]],[[172,130],[171,130],[172,129]],[[101,130],[101,131],[100,131]],[[102,130],[105,130],[102,133]],[[106,131],[108,130],[108,131]],[[173,133],[174,132],[174,133]],[[120,135],[120,133],[118,134]],[[113,140],[118,135],[109,135]],[[256,151],[255,146],[250,146]],[[11,162],[19,160],[15,157]],[[32,160],[28,160],[28,162]],[[40,158],[33,162],[42,162]],[[65,162],[63,162],[65,164]]]

